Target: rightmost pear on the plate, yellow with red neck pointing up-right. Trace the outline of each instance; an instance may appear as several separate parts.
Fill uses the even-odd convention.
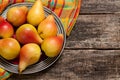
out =
[[[57,36],[52,36],[44,39],[41,44],[41,49],[45,52],[48,57],[57,56],[63,46],[63,34],[58,34]]]

